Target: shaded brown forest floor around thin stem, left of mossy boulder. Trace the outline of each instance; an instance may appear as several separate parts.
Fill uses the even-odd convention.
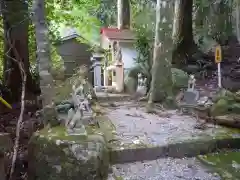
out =
[[[27,106],[25,108],[25,113],[23,116],[23,124],[20,132],[19,141],[19,151],[16,161],[16,171],[14,174],[14,179],[16,180],[26,180],[27,179],[27,169],[28,169],[28,142],[32,134],[41,129],[39,119],[35,116],[36,107]],[[10,112],[0,114],[0,132],[9,133],[13,144],[16,137],[16,126],[17,120],[20,114],[20,108],[11,110]],[[9,174],[11,166],[12,154],[7,154],[6,156],[6,172]]]

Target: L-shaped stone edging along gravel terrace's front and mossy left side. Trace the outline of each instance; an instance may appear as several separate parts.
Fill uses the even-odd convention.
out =
[[[136,148],[114,148],[109,142],[114,141],[115,126],[106,116],[98,118],[101,131],[104,133],[105,141],[109,149],[111,164],[124,164],[136,161],[155,160],[164,157],[184,158],[196,157],[207,153],[213,153],[221,149],[239,149],[240,137],[218,138],[207,140],[194,140],[172,143],[165,146],[135,146]]]

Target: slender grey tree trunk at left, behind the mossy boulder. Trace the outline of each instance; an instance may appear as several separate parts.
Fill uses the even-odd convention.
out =
[[[41,100],[43,106],[44,125],[58,124],[53,101],[53,78],[51,75],[51,55],[48,39],[48,27],[45,18],[44,0],[35,0],[33,3],[33,22],[35,25],[38,71],[40,76]]]

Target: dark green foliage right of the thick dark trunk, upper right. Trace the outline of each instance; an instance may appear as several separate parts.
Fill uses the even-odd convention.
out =
[[[195,0],[193,20],[196,42],[201,45],[202,38],[208,36],[208,39],[221,43],[233,35],[233,8],[233,0]]]

